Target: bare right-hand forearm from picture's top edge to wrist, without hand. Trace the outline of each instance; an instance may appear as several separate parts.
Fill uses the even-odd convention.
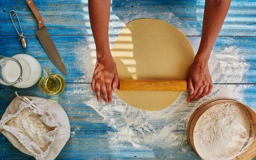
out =
[[[208,61],[225,20],[231,0],[206,0],[201,43],[196,57]]]

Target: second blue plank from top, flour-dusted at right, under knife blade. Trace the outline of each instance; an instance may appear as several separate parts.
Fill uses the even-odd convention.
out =
[[[111,46],[116,37],[110,36]],[[36,36],[26,36],[26,38],[28,47],[24,49],[18,41],[18,36],[0,36],[0,54],[4,56],[29,54],[38,59],[42,68],[50,67],[54,73],[60,73],[44,52]],[[197,52],[200,37],[188,38]],[[68,73],[68,77],[65,77],[66,81],[68,83],[90,83],[96,62],[93,36],[52,36],[52,40],[66,65]],[[209,61],[213,82],[256,83],[255,46],[256,38],[254,37],[219,37]],[[237,79],[236,77],[241,76],[241,70],[242,72],[247,70],[247,72]],[[223,77],[228,78],[223,79]]]

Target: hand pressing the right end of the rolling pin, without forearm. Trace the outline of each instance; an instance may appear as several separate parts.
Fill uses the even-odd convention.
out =
[[[188,88],[191,95],[188,98],[188,102],[194,102],[195,99],[201,99],[205,95],[207,96],[211,93],[212,87],[212,77],[209,72],[208,60],[196,56],[189,68]]]

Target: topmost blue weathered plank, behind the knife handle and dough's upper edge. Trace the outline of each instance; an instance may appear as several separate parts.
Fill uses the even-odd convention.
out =
[[[51,35],[91,35],[87,0],[35,0],[35,4]],[[222,27],[221,36],[256,36],[255,6],[253,0],[233,0]],[[16,35],[9,17],[15,10],[25,35],[35,35],[36,20],[25,1],[2,0],[0,5],[0,35]],[[185,35],[201,35],[204,0],[112,0],[110,35],[131,20],[150,17],[165,20]]]

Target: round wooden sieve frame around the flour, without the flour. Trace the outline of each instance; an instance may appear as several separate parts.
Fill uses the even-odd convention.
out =
[[[209,108],[211,108],[214,105],[217,105],[219,103],[223,103],[223,102],[236,102],[239,103],[240,105],[242,105],[247,112],[249,113],[249,116],[251,118],[251,120],[253,121],[253,129],[254,131],[256,131],[256,113],[248,106],[242,104],[239,101],[236,101],[234,99],[228,99],[228,98],[220,98],[220,99],[212,99],[209,100],[207,102],[205,102],[204,104],[200,105],[190,116],[188,125],[187,125],[187,138],[189,141],[189,145],[192,147],[192,149],[198,154],[198,152],[195,149],[195,145],[194,145],[194,128],[195,128],[195,124],[198,121],[199,117],[205,112],[207,111]],[[255,134],[253,132],[253,134]],[[256,138],[255,136],[252,135],[252,137],[254,137],[253,139],[253,143],[249,146],[249,148],[245,149],[244,152],[242,154],[240,154],[239,156],[237,156],[236,158],[234,158],[233,160],[252,160],[255,156],[256,156]],[[201,157],[198,154],[199,157]],[[203,157],[201,157],[203,160],[205,160]]]

